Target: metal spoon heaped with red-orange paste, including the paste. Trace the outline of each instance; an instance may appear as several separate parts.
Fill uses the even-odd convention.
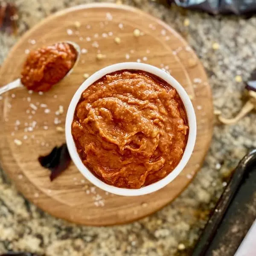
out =
[[[70,75],[79,61],[80,47],[63,41],[31,51],[23,65],[19,79],[0,88],[0,95],[17,87],[46,92]]]

